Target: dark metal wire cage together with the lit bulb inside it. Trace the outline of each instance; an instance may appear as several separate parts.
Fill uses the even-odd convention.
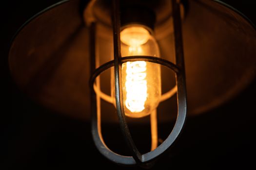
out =
[[[175,141],[179,135],[185,118],[186,118],[186,87],[185,87],[185,70],[182,48],[182,35],[181,35],[181,18],[179,3],[172,1],[173,6],[173,22],[174,36],[175,36],[175,51],[176,51],[176,65],[159,58],[158,45],[155,38],[150,34],[149,29],[143,23],[135,19],[129,20],[120,33],[120,18],[119,18],[119,1],[113,1],[113,38],[114,38],[114,60],[100,66],[96,70],[92,70],[92,78],[90,81],[91,86],[91,112],[92,112],[92,133],[95,144],[100,153],[111,161],[122,165],[139,165],[141,167],[148,167],[152,161],[160,154],[164,153]],[[143,9],[137,9],[141,11]],[[138,14],[136,15],[138,18]],[[153,17],[154,20],[154,17]],[[153,25],[153,24],[151,24]],[[92,33],[94,36],[94,25],[91,25]],[[152,32],[152,31],[151,31]],[[92,37],[93,39],[93,37]],[[94,40],[92,42],[95,42]],[[94,44],[94,43],[90,43]],[[92,48],[95,49],[95,48]],[[92,51],[91,66],[95,66],[95,54]],[[151,55],[151,56],[147,56]],[[178,116],[172,130],[172,133],[167,139],[157,147],[156,137],[157,134],[157,120],[156,120],[156,107],[161,98],[161,78],[160,67],[161,64],[167,68],[172,69],[176,73],[177,79],[177,100],[178,100]],[[94,92],[94,82],[96,77],[105,69],[114,66],[114,79],[112,81],[111,90],[117,107],[118,119],[120,128],[127,146],[129,147],[132,156],[123,156],[114,153],[105,145],[101,130],[100,130],[100,106],[97,105],[97,95]],[[93,69],[93,68],[92,68]],[[97,86],[95,87],[97,88]],[[96,90],[101,93],[100,90]],[[170,92],[172,92],[171,90]],[[106,96],[106,94],[105,94]],[[111,97],[109,97],[111,98]],[[114,101],[114,100],[113,100]],[[132,118],[140,118],[151,114],[152,127],[152,151],[149,153],[139,153],[132,136],[130,134],[125,116]]]

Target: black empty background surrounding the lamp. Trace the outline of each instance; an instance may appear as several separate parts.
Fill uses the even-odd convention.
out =
[[[3,154],[3,162],[0,169],[77,170],[88,169],[89,165],[123,169],[98,153],[89,123],[46,110],[23,94],[9,75],[7,54],[12,36],[23,22],[56,1],[1,2],[1,63],[3,83],[6,83],[2,94],[7,91],[7,95],[2,95],[0,140],[3,144],[0,153]],[[256,1],[224,1],[256,24]],[[177,143],[154,168],[256,169],[255,98],[256,81],[232,101],[197,117],[189,117]],[[168,128],[167,125],[161,126]],[[106,128],[111,131],[117,130],[118,126],[107,125]],[[166,136],[166,132],[159,132],[159,136]],[[116,148],[122,150],[125,147]]]

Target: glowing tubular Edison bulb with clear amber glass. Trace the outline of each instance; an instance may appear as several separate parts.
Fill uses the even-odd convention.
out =
[[[121,56],[147,55],[159,57],[156,39],[143,26],[130,25],[120,32]],[[115,99],[114,74],[111,96]],[[160,66],[134,61],[122,64],[123,105],[126,116],[140,118],[157,108],[161,96]],[[114,104],[116,102],[114,101]]]

